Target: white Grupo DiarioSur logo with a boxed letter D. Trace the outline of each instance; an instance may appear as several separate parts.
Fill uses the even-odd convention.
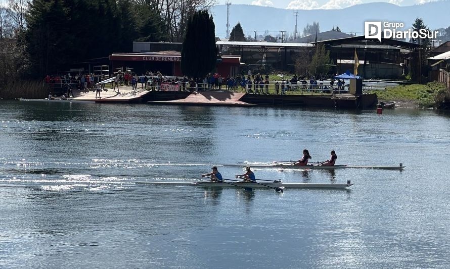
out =
[[[402,22],[365,22],[364,34],[365,38],[378,39],[381,42],[382,36],[383,38],[395,38],[406,40],[410,40],[411,38],[436,39],[439,33],[439,31],[429,31],[427,29],[420,29],[419,31],[414,31],[411,28],[406,30],[404,30],[403,28],[404,24]]]

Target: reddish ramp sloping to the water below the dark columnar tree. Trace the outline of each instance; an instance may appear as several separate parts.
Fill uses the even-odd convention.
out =
[[[229,105],[229,106],[249,106],[254,105],[240,101],[245,93],[241,92],[193,92],[188,97],[170,101],[149,101],[149,103],[164,104],[191,104],[191,105]]]

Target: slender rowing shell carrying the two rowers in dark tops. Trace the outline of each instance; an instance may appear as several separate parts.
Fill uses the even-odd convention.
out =
[[[306,166],[293,166],[292,164],[271,164],[271,165],[250,165],[250,164],[230,164],[223,165],[230,167],[246,167],[250,166],[252,168],[280,168],[280,169],[342,169],[342,168],[370,168],[370,169],[385,169],[385,170],[403,170],[406,166],[348,166],[348,165],[337,165],[337,166],[319,166],[319,165],[306,165]]]

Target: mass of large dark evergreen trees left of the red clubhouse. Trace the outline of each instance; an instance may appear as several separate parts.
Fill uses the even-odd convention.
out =
[[[148,36],[145,28],[151,24],[140,18],[138,26],[136,10],[130,0],[30,2],[25,37],[32,73],[42,76],[114,51],[131,51],[132,41]]]

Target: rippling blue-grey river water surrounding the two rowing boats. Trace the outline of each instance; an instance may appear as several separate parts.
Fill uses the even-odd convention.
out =
[[[1,268],[449,268],[450,115],[0,102]],[[312,161],[404,171],[255,169],[348,190],[210,189],[217,165]]]

